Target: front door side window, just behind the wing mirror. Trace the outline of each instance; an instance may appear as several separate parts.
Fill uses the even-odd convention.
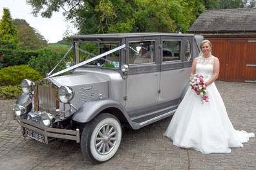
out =
[[[155,41],[129,42],[129,64],[155,62]]]

